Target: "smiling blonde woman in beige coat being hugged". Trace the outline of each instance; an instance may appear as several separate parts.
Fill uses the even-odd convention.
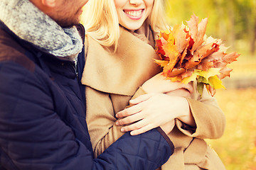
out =
[[[168,124],[175,152],[161,169],[225,169],[203,140],[223,135],[225,116],[215,98],[205,90],[200,99],[195,82],[191,89],[191,84],[164,80],[153,61],[158,58],[157,33],[168,28],[162,3],[97,0],[86,6],[85,16],[92,17],[84,22],[87,52],[82,84],[95,156],[122,132],[137,135]],[[135,106],[124,109],[129,101]]]

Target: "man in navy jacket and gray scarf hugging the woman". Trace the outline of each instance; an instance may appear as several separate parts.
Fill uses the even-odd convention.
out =
[[[86,3],[0,1],[0,169],[156,169],[173,154],[158,128],[127,133],[92,158],[80,84],[84,29],[74,26]]]

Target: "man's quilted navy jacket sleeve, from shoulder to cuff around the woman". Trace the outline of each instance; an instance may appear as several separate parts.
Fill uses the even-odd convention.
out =
[[[16,62],[0,63],[1,168],[156,169],[173,153],[171,142],[152,130],[137,137],[124,135],[93,159],[90,150],[55,113],[46,82],[38,79],[42,76]]]

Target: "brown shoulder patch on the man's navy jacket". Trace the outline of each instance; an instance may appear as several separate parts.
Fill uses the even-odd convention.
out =
[[[0,62],[16,62],[31,70],[34,63],[26,57],[26,51],[16,38],[0,28]]]

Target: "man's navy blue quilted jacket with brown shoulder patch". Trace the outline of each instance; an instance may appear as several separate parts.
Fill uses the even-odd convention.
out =
[[[174,146],[161,128],[126,133],[93,159],[83,66],[83,53],[75,69],[0,23],[0,169],[156,169],[169,159]]]

